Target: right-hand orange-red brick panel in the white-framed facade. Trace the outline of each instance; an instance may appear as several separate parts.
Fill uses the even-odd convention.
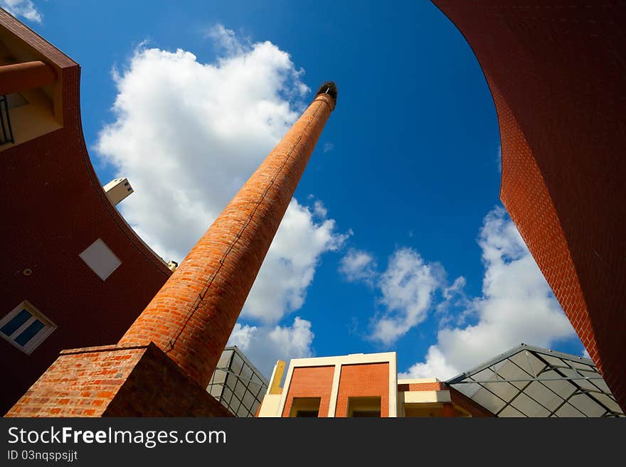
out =
[[[349,397],[381,397],[381,417],[389,417],[389,364],[341,365],[335,417],[346,417]]]

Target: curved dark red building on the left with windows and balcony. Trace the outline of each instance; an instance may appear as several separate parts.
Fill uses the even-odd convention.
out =
[[[3,414],[61,349],[117,341],[171,275],[95,175],[79,85],[78,64],[0,9]]]

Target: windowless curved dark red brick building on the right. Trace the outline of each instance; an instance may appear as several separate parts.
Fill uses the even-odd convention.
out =
[[[626,407],[626,4],[434,0],[497,109],[500,198]]]

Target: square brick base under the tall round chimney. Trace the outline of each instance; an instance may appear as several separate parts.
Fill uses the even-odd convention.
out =
[[[232,417],[154,343],[62,350],[5,417]]]

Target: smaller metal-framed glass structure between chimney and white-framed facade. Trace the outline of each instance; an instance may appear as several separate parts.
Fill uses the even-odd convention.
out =
[[[206,390],[235,417],[254,417],[267,380],[236,345],[223,350]]]

